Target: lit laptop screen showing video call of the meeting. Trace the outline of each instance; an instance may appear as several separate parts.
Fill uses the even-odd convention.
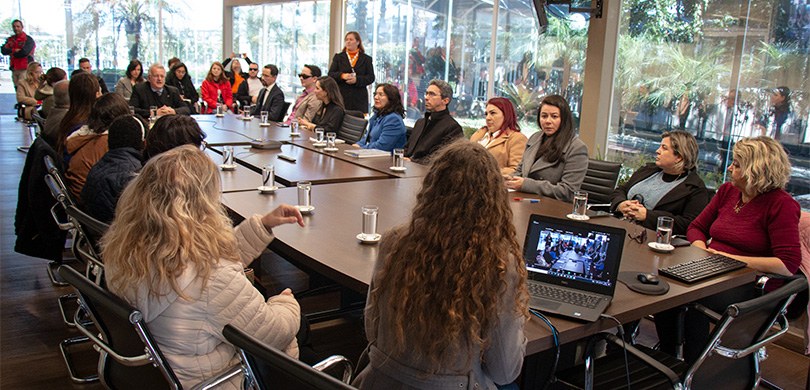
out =
[[[536,244],[526,250],[526,269],[579,282],[610,287],[607,266],[610,235],[599,231],[575,231],[533,223]],[[537,234],[539,230],[539,234]]]

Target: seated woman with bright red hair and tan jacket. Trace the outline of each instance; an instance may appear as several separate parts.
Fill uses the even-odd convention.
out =
[[[502,174],[515,173],[528,139],[520,132],[512,102],[501,97],[489,99],[486,121],[487,125],[473,133],[470,141],[478,142],[492,153]]]

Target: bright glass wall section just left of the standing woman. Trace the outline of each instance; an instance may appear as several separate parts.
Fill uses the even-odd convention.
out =
[[[293,100],[300,93],[296,75],[304,64],[320,67],[324,75],[328,70],[329,2],[234,7],[233,50],[260,66],[278,66],[279,86]]]

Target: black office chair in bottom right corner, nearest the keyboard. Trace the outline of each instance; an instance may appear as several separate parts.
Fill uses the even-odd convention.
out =
[[[801,276],[766,295],[731,304],[722,315],[693,305],[693,310],[714,323],[714,330],[692,365],[660,351],[625,344],[615,335],[600,333],[588,343],[585,365],[565,370],[557,378],[575,388],[626,388],[622,351],[626,347],[632,388],[755,388],[761,380],[760,350],[788,331],[785,311],[796,294],[806,288],[807,279]],[[598,340],[607,340],[619,348],[594,362],[592,353]]]

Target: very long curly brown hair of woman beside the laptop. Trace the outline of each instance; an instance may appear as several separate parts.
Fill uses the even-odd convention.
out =
[[[393,332],[393,353],[416,354],[437,370],[463,345],[483,353],[504,294],[515,294],[515,311],[528,317],[526,269],[503,178],[477,143],[452,143],[433,159],[411,221],[384,241],[391,249],[378,260],[366,317]],[[510,267],[516,291],[506,291]]]

